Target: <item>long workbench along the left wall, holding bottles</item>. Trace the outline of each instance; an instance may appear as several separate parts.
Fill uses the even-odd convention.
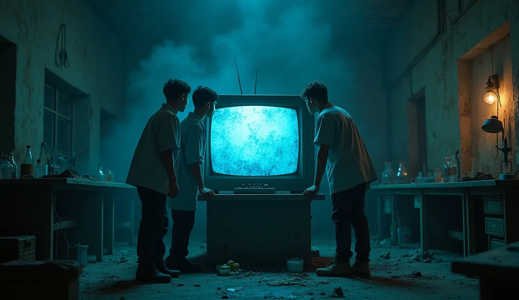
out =
[[[128,206],[133,206],[136,195],[135,188],[127,184],[71,178],[0,180],[0,190],[0,235],[36,236],[37,260],[52,260],[54,235],[77,226],[84,229],[84,238],[90,242],[88,252],[101,262],[104,246],[108,254],[113,252],[116,194],[127,197]],[[64,191],[75,193],[57,197]],[[77,200],[81,208],[71,210],[82,215],[81,220],[58,215],[57,201],[67,204]]]

